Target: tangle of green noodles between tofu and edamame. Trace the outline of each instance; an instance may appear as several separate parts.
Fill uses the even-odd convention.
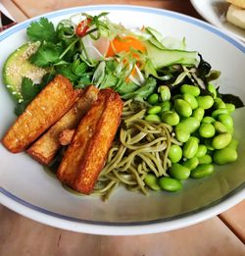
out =
[[[171,126],[143,120],[145,112],[143,103],[124,102],[121,128],[94,193],[108,198],[115,187],[123,184],[129,190],[147,195],[144,179],[149,172],[156,177],[169,176],[167,170],[172,165],[169,150],[172,143],[179,145],[179,142],[173,137]]]

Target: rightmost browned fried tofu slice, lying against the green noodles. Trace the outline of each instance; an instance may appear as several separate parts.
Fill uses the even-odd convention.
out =
[[[100,90],[98,100],[81,120],[65,153],[57,177],[89,194],[104,167],[120,126],[123,101],[112,89]]]

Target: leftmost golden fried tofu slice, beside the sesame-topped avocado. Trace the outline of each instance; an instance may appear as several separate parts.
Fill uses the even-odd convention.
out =
[[[71,81],[56,76],[29,103],[25,112],[7,131],[2,143],[13,153],[24,151],[73,106],[75,98],[76,91]]]

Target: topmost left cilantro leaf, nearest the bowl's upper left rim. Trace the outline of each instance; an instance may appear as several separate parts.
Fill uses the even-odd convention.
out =
[[[55,27],[47,18],[42,17],[38,22],[32,22],[26,30],[31,41],[56,41]]]

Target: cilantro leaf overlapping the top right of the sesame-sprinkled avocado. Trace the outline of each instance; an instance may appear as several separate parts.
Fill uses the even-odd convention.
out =
[[[43,42],[37,51],[30,56],[29,61],[38,67],[48,67],[59,61],[62,47],[60,44]]]

